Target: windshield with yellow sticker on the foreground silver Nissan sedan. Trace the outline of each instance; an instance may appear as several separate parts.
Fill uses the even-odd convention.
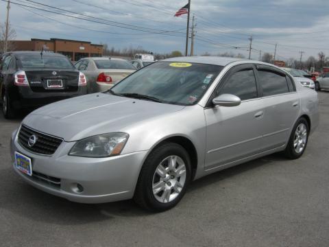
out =
[[[168,104],[193,105],[207,91],[222,66],[186,62],[155,62],[125,78],[109,91],[146,95]],[[127,95],[128,94],[128,95]]]

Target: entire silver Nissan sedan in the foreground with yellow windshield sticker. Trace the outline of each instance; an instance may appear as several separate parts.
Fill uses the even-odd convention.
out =
[[[202,176],[274,152],[302,156],[318,103],[271,64],[170,58],[109,91],[29,114],[12,134],[12,165],[30,185],[74,202],[134,198],[164,211]]]

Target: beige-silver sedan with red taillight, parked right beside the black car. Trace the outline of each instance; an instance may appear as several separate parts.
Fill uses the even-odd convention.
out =
[[[136,71],[130,62],[121,58],[82,58],[75,67],[86,75],[88,93],[106,91]]]

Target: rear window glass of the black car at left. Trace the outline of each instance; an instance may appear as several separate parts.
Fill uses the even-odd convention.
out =
[[[66,57],[41,55],[21,55],[18,57],[22,68],[74,69]]]

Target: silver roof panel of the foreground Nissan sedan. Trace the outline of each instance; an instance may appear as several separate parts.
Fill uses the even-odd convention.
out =
[[[189,57],[178,57],[178,58],[168,58],[162,61],[167,62],[197,62],[203,64],[214,64],[214,65],[221,65],[226,66],[231,62],[243,61],[245,59],[241,58],[226,58],[220,56],[189,56]],[[252,61],[252,60],[249,60]]]

